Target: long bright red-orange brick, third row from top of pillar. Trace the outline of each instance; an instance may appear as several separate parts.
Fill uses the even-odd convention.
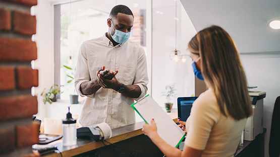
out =
[[[31,61],[37,59],[37,46],[31,39],[0,37],[0,61]]]

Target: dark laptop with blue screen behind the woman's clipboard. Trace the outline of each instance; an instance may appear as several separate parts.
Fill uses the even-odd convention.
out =
[[[198,97],[179,97],[177,98],[177,106],[178,106],[178,119],[181,121],[187,121],[191,114],[191,109],[193,106],[193,102],[197,99]],[[178,122],[179,124],[179,122]],[[180,143],[179,148],[183,150],[184,147],[184,141]]]

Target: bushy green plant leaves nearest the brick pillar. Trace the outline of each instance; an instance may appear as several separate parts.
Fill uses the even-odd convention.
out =
[[[57,95],[63,93],[60,90],[61,87],[62,86],[59,86],[59,85],[53,85],[46,92],[45,92],[45,89],[44,89],[43,92],[41,93],[41,96],[44,97],[43,98],[44,104],[46,104],[46,102],[48,102],[49,104],[51,104],[52,102],[56,102],[57,101]]]

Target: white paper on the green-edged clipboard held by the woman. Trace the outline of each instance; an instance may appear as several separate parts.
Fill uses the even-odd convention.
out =
[[[157,133],[166,143],[173,147],[179,144],[185,132],[161,109],[151,96],[141,99],[133,106],[148,124],[151,124],[151,120],[154,119]]]

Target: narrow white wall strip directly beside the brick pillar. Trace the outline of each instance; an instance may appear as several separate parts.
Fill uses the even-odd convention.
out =
[[[37,26],[34,40],[37,44],[38,58],[35,60],[35,69],[39,70],[39,86],[35,88],[35,95],[38,96],[38,119],[43,120],[48,110],[42,101],[40,93],[44,88],[49,89],[53,85],[53,46],[52,46],[52,9],[51,4],[45,0],[39,0],[34,6]]]

